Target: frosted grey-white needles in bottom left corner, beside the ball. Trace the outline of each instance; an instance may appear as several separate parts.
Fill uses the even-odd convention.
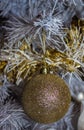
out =
[[[9,101],[0,107],[1,130],[24,130],[28,129],[30,124],[21,106],[15,101]]]

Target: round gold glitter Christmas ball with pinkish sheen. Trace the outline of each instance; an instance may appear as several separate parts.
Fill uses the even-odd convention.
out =
[[[52,123],[68,111],[71,101],[64,80],[54,74],[39,74],[26,83],[22,104],[25,113],[36,122]]]

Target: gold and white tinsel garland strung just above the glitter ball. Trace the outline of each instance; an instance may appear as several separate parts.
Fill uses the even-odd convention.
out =
[[[33,39],[26,37],[14,44],[14,48],[2,49],[0,63],[3,64],[3,59],[6,62],[5,68],[1,65],[4,68],[2,72],[7,75],[11,82],[16,84],[19,84],[26,76],[30,79],[34,73],[40,73],[43,68],[45,71],[47,68],[49,73],[54,74],[61,70],[62,75],[67,72],[83,75],[78,69],[84,67],[83,23],[84,21],[72,22],[72,26],[64,38],[66,44],[62,51],[45,44],[45,32],[42,34],[43,44],[36,45],[38,49],[32,45]]]

